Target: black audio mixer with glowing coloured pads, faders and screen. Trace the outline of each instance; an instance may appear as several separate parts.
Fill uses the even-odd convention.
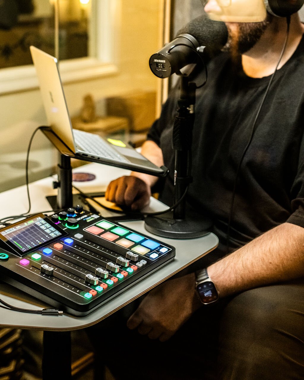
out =
[[[0,278],[76,316],[173,260],[171,245],[69,208],[0,229]]]

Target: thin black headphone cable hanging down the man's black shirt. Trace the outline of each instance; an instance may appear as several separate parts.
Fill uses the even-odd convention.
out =
[[[282,60],[282,57],[285,53],[285,49],[286,49],[286,46],[287,46],[287,41],[288,41],[288,36],[289,36],[289,30],[290,30],[290,16],[286,17],[286,21],[287,21],[287,30],[286,30],[286,36],[285,36],[285,40],[284,40],[284,43],[283,43],[283,46],[282,46],[282,50],[280,52],[280,55],[279,55],[279,59],[277,61],[277,65],[275,66],[275,69],[274,69],[274,72],[272,73],[271,75],[271,78],[269,79],[269,82],[268,82],[268,86],[266,88],[266,91],[264,93],[264,96],[263,96],[263,99],[261,101],[261,104],[258,108],[258,112],[256,113],[256,116],[255,116],[255,120],[253,122],[253,125],[252,125],[252,131],[251,131],[251,135],[250,135],[250,138],[249,138],[249,141],[244,149],[244,152],[242,154],[242,157],[241,157],[241,160],[239,161],[239,164],[237,166],[237,170],[236,170],[236,177],[234,179],[234,185],[233,185],[233,192],[232,192],[232,198],[231,198],[231,205],[230,205],[230,212],[229,212],[229,217],[228,217],[228,227],[227,227],[227,234],[226,234],[226,250],[228,251],[228,244],[229,244],[229,239],[230,239],[230,229],[231,229],[231,222],[232,222],[232,217],[233,217],[233,206],[234,206],[234,199],[235,199],[235,194],[236,194],[236,185],[237,185],[237,178],[239,176],[239,171],[241,169],[241,165],[242,165],[242,162],[244,160],[244,157],[245,157],[245,154],[252,142],[252,139],[253,139],[253,135],[255,133],[255,126],[256,126],[256,121],[258,120],[258,117],[260,116],[260,112],[261,112],[261,109],[264,105],[264,101],[268,95],[268,92],[269,92],[269,89],[270,89],[270,86],[272,84],[272,81],[274,79],[274,76],[275,74],[277,73],[277,70],[278,70],[278,67],[279,67],[279,64]]]

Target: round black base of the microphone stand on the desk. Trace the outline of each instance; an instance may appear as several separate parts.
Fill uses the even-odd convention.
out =
[[[174,219],[173,212],[158,216],[147,216],[145,228],[148,232],[170,239],[195,239],[207,235],[212,221],[201,215],[187,214],[187,219]]]

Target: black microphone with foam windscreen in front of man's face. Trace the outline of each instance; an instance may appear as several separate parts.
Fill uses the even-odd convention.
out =
[[[168,78],[190,63],[196,63],[198,49],[212,57],[226,44],[228,31],[224,22],[212,21],[206,13],[190,21],[177,32],[176,38],[150,57],[152,73]]]

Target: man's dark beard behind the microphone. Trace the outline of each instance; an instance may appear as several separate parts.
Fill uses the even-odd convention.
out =
[[[238,22],[236,32],[228,28],[228,41],[223,51],[230,51],[233,55],[244,54],[249,51],[261,38],[274,16],[267,14],[261,22]]]

